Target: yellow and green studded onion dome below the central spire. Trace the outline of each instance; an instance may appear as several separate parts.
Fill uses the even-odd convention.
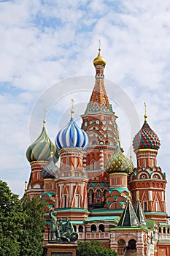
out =
[[[107,173],[131,173],[134,170],[134,165],[117,145],[115,152],[107,159],[105,169]]]

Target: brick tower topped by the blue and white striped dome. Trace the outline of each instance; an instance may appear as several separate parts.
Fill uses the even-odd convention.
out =
[[[88,135],[75,123],[73,109],[71,113],[69,123],[55,139],[61,156],[60,171],[55,177],[55,210],[58,217],[83,220],[88,216],[88,178],[82,162]]]

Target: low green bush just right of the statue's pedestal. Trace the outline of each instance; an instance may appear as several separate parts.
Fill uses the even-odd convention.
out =
[[[105,248],[101,242],[90,240],[90,242],[78,241],[77,256],[117,256],[117,252]]]

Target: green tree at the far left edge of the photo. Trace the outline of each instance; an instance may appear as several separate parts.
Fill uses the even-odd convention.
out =
[[[7,183],[0,181],[0,255],[20,255],[23,211],[18,195],[12,194]]]

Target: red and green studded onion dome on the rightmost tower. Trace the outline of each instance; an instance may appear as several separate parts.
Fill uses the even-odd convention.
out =
[[[138,149],[155,149],[158,150],[160,148],[160,140],[158,135],[150,128],[147,121],[144,121],[142,129],[136,134],[133,140],[134,151]]]

